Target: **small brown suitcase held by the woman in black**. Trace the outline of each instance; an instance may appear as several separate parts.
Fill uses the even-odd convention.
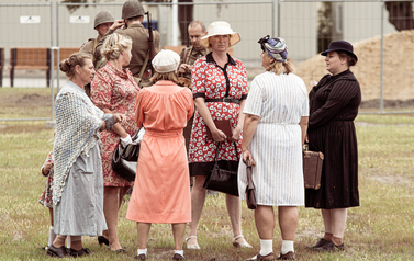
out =
[[[303,180],[305,189],[318,190],[321,188],[323,161],[324,154],[310,151],[307,145],[303,146]]]

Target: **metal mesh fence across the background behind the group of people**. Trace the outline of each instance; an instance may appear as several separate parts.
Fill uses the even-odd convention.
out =
[[[161,35],[161,47],[181,45],[181,39],[186,37],[180,34],[182,24],[177,22],[176,11],[180,8],[192,8],[192,16],[180,16],[184,29],[191,20],[201,20],[205,25],[213,21],[227,21],[242,36],[242,42],[234,46],[234,56],[245,63],[250,78],[259,71],[255,69],[260,68],[257,41],[267,34],[287,39],[289,56],[295,61],[296,72],[307,86],[326,73],[323,58],[317,54],[331,41],[346,39],[354,44],[359,57],[354,70],[361,83],[362,99],[378,103],[376,109],[362,110],[362,113],[413,113],[384,110],[387,101],[414,100],[414,79],[409,72],[411,65],[402,66],[412,60],[413,47],[399,46],[402,39],[414,36],[410,34],[411,31],[399,33],[388,22],[390,16],[385,3],[385,0],[194,0],[183,3],[145,2],[144,8],[152,12],[153,22]],[[40,99],[37,104],[51,106],[49,117],[19,114],[12,118],[1,118],[0,115],[0,121],[53,120],[54,97],[66,82],[66,77],[54,66],[61,58],[60,52],[64,48],[79,48],[88,38],[97,37],[94,15],[108,10],[120,19],[122,4],[122,0],[86,4],[0,3],[0,86],[11,86],[13,48],[44,47],[48,53],[42,59],[48,63],[48,72],[20,67],[13,71],[13,84],[40,88],[46,87],[49,81],[48,86],[52,87],[47,103]],[[72,11],[69,12],[69,9]],[[4,89],[0,89],[0,93]],[[0,106],[7,106],[7,103]]]

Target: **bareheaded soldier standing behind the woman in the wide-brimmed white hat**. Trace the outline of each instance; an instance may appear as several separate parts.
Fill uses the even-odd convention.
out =
[[[206,35],[205,25],[203,22],[194,20],[188,26],[188,33],[190,36],[191,46],[186,47],[181,50],[180,54],[180,65],[178,67],[178,76],[181,86],[188,87],[191,89],[191,69],[192,65],[197,59],[206,55],[208,49],[204,46],[200,45],[199,39]],[[187,122],[187,127],[184,127],[183,136],[186,138],[186,148],[188,154],[188,148],[191,138],[191,127],[192,121],[194,116],[192,116]],[[194,183],[194,179],[190,178],[190,185],[192,186]]]

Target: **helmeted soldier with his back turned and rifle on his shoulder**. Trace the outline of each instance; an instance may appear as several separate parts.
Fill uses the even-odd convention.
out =
[[[122,19],[125,22],[125,29],[116,31],[116,33],[130,36],[132,38],[132,59],[126,68],[131,70],[141,88],[152,86],[152,60],[150,58],[146,59],[147,56],[149,57],[148,30],[142,25],[144,14],[145,11],[139,1],[126,1],[122,7]],[[159,50],[159,33],[154,30],[153,34],[156,55]],[[145,63],[145,60],[147,61]],[[145,68],[139,76],[143,67]]]

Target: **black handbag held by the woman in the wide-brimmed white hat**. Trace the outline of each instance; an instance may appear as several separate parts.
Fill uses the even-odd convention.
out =
[[[238,161],[237,146],[236,143],[233,144],[236,149],[236,156]],[[238,196],[237,171],[223,170],[219,167],[217,156],[220,145],[221,143],[217,144],[217,149],[215,150],[214,167],[208,175],[208,178],[205,179],[203,188]]]

